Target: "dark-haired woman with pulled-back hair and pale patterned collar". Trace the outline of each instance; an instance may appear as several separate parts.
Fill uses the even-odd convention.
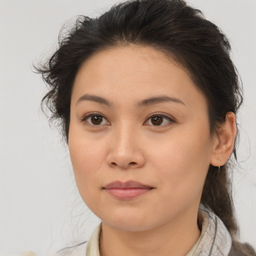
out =
[[[60,253],[256,255],[237,241],[228,179],[242,101],[229,50],[181,0],[77,20],[38,71],[79,193],[102,222]]]

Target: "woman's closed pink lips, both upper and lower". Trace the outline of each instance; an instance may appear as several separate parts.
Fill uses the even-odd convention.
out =
[[[152,188],[133,180],[126,182],[113,181],[104,187],[107,193],[121,200],[133,199],[150,191]]]

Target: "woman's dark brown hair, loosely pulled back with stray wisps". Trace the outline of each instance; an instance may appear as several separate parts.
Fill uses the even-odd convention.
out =
[[[37,71],[49,85],[42,103],[58,120],[68,141],[71,90],[80,65],[91,55],[118,46],[147,45],[164,51],[181,63],[205,95],[211,134],[236,113],[242,102],[238,74],[226,36],[200,10],[183,0],[131,0],[114,5],[99,17],[79,16],[68,33],[59,35],[59,47]],[[235,146],[233,148],[235,154]],[[226,164],[209,166],[201,203],[221,218],[242,255],[255,255],[252,248],[235,241],[231,182]]]

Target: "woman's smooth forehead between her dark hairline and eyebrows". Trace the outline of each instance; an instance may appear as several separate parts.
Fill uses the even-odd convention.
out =
[[[150,46],[109,48],[92,55],[76,74],[72,97],[84,93],[130,100],[157,93],[187,102],[202,97],[181,64]]]

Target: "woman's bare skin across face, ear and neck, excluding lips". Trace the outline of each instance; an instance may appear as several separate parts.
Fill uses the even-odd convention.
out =
[[[141,103],[157,96],[172,100]],[[102,122],[93,124],[90,113]],[[154,125],[151,114],[163,122]],[[73,84],[68,146],[79,193],[102,220],[100,255],[185,255],[200,234],[208,166],[225,163],[235,133],[229,112],[219,134],[210,134],[205,96],[164,53],[133,45],[87,59]],[[152,189],[121,200],[103,189],[115,180]]]

